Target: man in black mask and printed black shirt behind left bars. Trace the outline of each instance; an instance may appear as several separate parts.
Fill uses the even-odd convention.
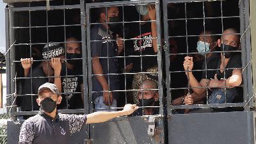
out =
[[[83,108],[83,93],[74,93],[83,92],[83,77],[79,76],[83,74],[82,60],[79,60],[82,58],[81,43],[74,37],[67,38],[65,49],[67,63],[62,64],[61,76],[66,77],[61,77],[63,100],[58,109]]]

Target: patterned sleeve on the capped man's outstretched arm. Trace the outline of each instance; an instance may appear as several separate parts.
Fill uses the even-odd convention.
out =
[[[68,126],[70,134],[80,131],[83,124],[86,124],[87,115],[66,115],[63,114],[66,120],[68,120]]]

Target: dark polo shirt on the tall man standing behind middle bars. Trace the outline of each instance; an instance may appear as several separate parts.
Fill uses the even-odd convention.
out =
[[[110,90],[118,90],[118,75],[115,75],[118,74],[118,63],[117,58],[115,58],[117,56],[117,45],[116,41],[113,40],[113,33],[107,31],[102,24],[95,25],[91,33],[92,58],[104,57],[100,58],[103,74],[109,74],[105,78]],[[96,76],[92,77],[92,90],[93,92],[102,91],[102,86]],[[100,95],[100,93],[95,93],[95,95]]]

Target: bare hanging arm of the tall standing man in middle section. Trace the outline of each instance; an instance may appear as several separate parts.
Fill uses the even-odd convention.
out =
[[[99,58],[94,58],[92,60],[92,67],[93,67],[93,74],[97,74],[96,76],[97,80],[99,81],[103,90],[108,89],[108,82],[106,81],[105,76],[100,76],[100,74],[103,74],[103,70],[102,70],[102,66],[100,64]]]

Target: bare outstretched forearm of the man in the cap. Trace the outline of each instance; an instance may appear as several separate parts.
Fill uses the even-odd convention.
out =
[[[98,111],[87,115],[86,124],[106,122],[108,120],[111,120],[112,118],[115,118],[116,116],[122,115],[125,115],[124,111]]]

